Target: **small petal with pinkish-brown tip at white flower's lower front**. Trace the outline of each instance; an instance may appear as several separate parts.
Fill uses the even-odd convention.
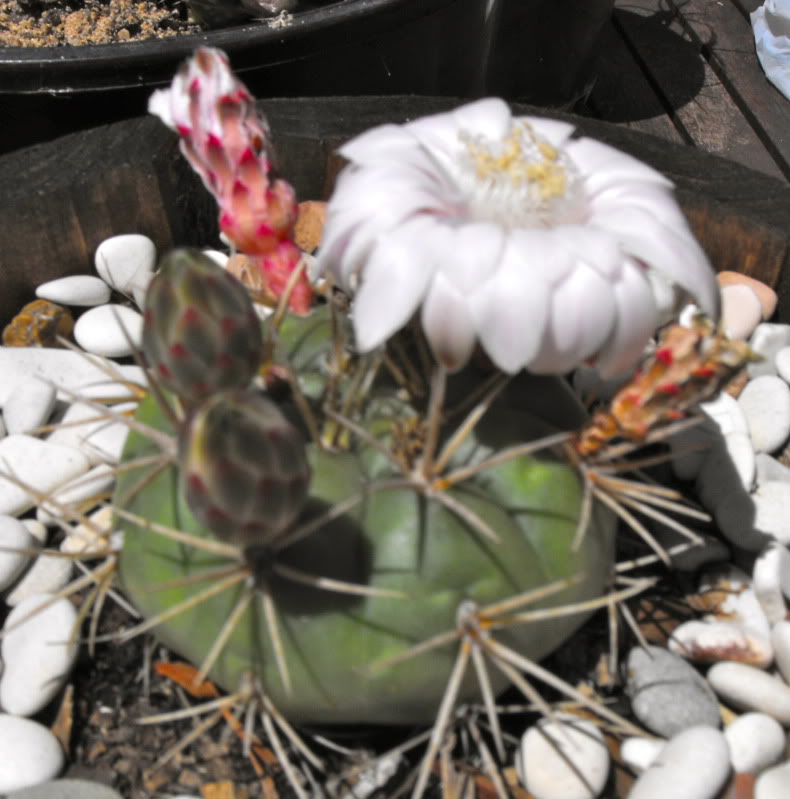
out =
[[[422,329],[436,359],[451,372],[472,354],[475,332],[463,294],[441,272],[433,279],[422,306]]]

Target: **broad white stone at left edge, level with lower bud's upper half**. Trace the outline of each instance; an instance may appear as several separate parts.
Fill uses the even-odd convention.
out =
[[[33,436],[7,436],[0,440],[0,471],[13,474],[41,494],[50,494],[89,468],[88,459],[70,447],[59,447]],[[32,494],[0,477],[0,513],[18,516],[35,504]]]

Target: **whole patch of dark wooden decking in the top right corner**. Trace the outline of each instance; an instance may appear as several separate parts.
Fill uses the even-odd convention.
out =
[[[762,0],[617,0],[583,113],[790,181],[790,101],[766,79]]]

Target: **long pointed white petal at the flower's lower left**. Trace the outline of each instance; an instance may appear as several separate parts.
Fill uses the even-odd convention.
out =
[[[436,269],[435,226],[430,217],[415,217],[383,234],[373,248],[352,306],[360,352],[378,347],[417,310]]]

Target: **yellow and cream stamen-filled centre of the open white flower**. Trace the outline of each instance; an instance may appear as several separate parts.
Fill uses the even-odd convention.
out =
[[[462,187],[476,219],[506,227],[552,227],[584,219],[582,181],[567,154],[525,120],[500,141],[462,132]]]

